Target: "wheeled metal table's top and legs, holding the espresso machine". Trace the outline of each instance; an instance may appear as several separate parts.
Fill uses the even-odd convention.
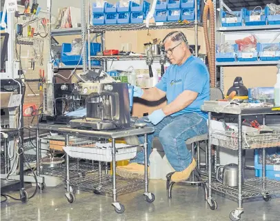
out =
[[[64,125],[52,125],[52,124],[32,124],[30,128],[36,128],[37,133],[39,129],[57,131],[66,135],[66,146],[68,146],[69,135],[83,136],[83,137],[97,137],[97,138],[111,138],[112,139],[112,205],[117,213],[123,213],[125,207],[123,204],[117,201],[117,185],[116,185],[116,146],[115,140],[121,137],[128,137],[131,135],[144,135],[145,143],[144,147],[144,159],[145,159],[145,200],[147,202],[154,201],[154,194],[148,191],[148,134],[154,132],[152,127],[144,128],[126,128],[121,130],[112,130],[112,131],[92,131],[92,130],[83,130],[77,128],[71,128],[70,126]],[[39,145],[39,142],[37,142]],[[66,198],[68,202],[72,203],[75,200],[72,187],[70,186],[70,175],[69,175],[69,155],[66,153]]]

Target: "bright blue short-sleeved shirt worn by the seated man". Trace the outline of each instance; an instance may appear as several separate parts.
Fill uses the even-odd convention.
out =
[[[200,107],[210,99],[210,79],[206,65],[198,57],[190,56],[184,64],[171,65],[167,68],[161,81],[156,85],[159,90],[166,92],[168,104],[174,101],[184,90],[197,92],[197,99],[189,106],[171,116],[196,112],[207,118],[207,113]]]

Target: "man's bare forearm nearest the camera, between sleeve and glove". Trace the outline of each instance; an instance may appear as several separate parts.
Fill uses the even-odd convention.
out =
[[[166,116],[181,111],[192,104],[197,99],[197,95],[198,93],[192,90],[184,90],[173,102],[165,106],[162,111]]]

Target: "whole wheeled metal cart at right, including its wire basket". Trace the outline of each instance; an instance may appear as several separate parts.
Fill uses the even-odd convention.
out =
[[[226,102],[225,102],[226,103]],[[250,107],[250,104],[232,105],[228,102],[222,105],[219,102],[207,102],[201,106],[202,111],[208,112],[209,142],[208,142],[208,162],[211,162],[211,144],[230,148],[238,151],[238,186],[230,187],[221,182],[212,182],[212,168],[208,166],[208,204],[210,209],[217,209],[217,202],[212,198],[212,190],[219,191],[233,198],[237,198],[237,209],[230,212],[230,220],[237,221],[241,219],[243,213],[243,199],[262,196],[266,202],[271,200],[271,195],[280,193],[280,182],[270,180],[266,177],[266,160],[262,164],[262,177],[254,177],[244,180],[242,151],[249,148],[263,148],[263,159],[266,157],[266,148],[280,146],[280,131],[274,130],[272,133],[245,133],[242,131],[242,117],[248,115],[263,115],[263,125],[266,123],[266,115],[276,115],[280,111],[272,107]],[[275,109],[275,111],[273,111]],[[224,113],[238,116],[237,131],[217,131],[211,128],[212,113]]]

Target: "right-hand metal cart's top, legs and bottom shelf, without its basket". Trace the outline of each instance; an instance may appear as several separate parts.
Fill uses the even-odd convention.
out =
[[[246,107],[243,105],[240,106],[222,106],[212,103],[212,105],[203,105],[201,106],[202,111],[208,112],[208,127],[209,127],[209,134],[208,134],[208,162],[211,162],[211,119],[212,113],[226,113],[229,115],[238,115],[238,187],[231,188],[228,186],[224,186],[219,182],[212,182],[212,168],[208,166],[208,204],[210,205],[210,209],[214,210],[217,209],[217,202],[212,198],[212,190],[219,191],[221,193],[228,194],[238,200],[237,209],[230,212],[230,219],[240,220],[241,214],[243,213],[243,199],[250,198],[262,195],[263,200],[269,201],[271,199],[272,194],[280,193],[280,182],[269,180],[266,178],[266,160],[263,160],[263,173],[262,177],[254,178],[250,180],[246,180],[244,184],[241,183],[241,172],[243,169],[243,160],[242,160],[242,116],[248,115],[263,115],[263,125],[266,124],[266,115],[277,115],[280,114],[280,110],[272,111],[271,107]],[[263,159],[266,159],[266,148],[263,148]]]

